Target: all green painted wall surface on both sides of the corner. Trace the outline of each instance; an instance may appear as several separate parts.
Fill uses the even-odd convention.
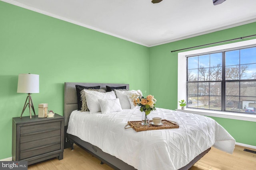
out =
[[[175,109],[178,52],[170,51],[252,34],[256,23],[148,48],[0,1],[0,159],[12,156],[12,117],[26,99],[16,93],[20,73],[40,75],[40,93],[32,94],[36,113],[48,103],[63,115],[64,82],[128,83],[154,95],[157,107]],[[248,134],[256,122],[212,118],[237,142],[256,146]]]

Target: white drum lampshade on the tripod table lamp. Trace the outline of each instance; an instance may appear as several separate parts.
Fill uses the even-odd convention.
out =
[[[17,93],[39,93],[39,75],[19,74]]]

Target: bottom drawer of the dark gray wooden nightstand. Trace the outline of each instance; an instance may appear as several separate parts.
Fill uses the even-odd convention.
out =
[[[32,156],[37,156],[40,154],[52,152],[54,150],[60,150],[60,142],[45,145],[43,147],[37,147],[37,148],[33,148],[33,149],[20,151],[20,160],[30,158]]]

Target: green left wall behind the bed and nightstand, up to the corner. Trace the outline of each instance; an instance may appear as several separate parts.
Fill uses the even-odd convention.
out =
[[[0,159],[12,156],[12,117],[27,96],[17,93],[18,74],[40,75],[36,114],[48,103],[63,115],[64,82],[128,83],[148,92],[148,56],[148,47],[0,1]]]

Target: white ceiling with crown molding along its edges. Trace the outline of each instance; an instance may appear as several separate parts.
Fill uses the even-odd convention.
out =
[[[147,47],[256,21],[256,0],[2,1]]]

